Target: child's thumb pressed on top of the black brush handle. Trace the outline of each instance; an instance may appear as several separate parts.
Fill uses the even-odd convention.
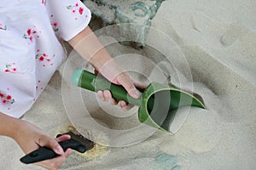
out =
[[[64,151],[61,148],[61,145],[55,139],[51,139],[46,135],[42,135],[41,137],[39,137],[38,145],[41,147],[45,146],[51,150],[54,150],[55,153],[58,155],[64,154]]]

